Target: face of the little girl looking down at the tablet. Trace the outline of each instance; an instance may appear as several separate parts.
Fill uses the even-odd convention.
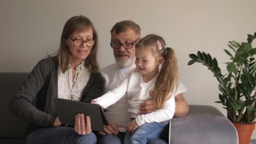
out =
[[[163,57],[157,56],[156,53],[154,56],[151,48],[136,48],[135,51],[135,64],[141,74],[157,74],[159,71],[159,65],[163,62]]]

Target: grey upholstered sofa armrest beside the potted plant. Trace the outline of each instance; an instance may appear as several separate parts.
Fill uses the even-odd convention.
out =
[[[171,120],[171,144],[238,144],[237,131],[212,106],[189,105],[189,114]]]

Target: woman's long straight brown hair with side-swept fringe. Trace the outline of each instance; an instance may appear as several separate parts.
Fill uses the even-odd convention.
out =
[[[56,52],[58,65],[63,72],[70,68],[69,64],[71,63],[71,53],[66,44],[66,40],[72,33],[80,32],[89,28],[92,28],[93,30],[93,40],[95,40],[95,43],[91,48],[91,53],[85,59],[85,67],[90,68],[92,73],[99,72],[99,64],[96,58],[98,51],[98,35],[91,20],[85,16],[73,16],[72,18],[67,20],[66,24],[64,25],[61,34],[61,43],[59,46],[59,50]],[[53,53],[52,55],[54,54],[55,53]]]

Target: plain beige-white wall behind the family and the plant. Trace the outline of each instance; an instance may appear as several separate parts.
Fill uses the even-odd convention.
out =
[[[246,41],[256,32],[255,6],[256,0],[1,0],[0,72],[30,72],[46,53],[57,51],[64,23],[80,14],[95,24],[99,64],[105,67],[115,62],[109,30],[130,19],[140,25],[142,36],[161,35],[175,49],[188,103],[211,105],[226,115],[213,102],[217,80],[203,65],[187,66],[188,55],[205,51],[225,68],[227,41]]]

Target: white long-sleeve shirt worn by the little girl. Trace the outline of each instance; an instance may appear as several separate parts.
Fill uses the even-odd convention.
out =
[[[129,104],[128,112],[131,113],[131,118],[136,118],[136,122],[139,126],[143,125],[144,123],[160,123],[170,120],[175,112],[174,96],[187,91],[187,88],[182,83],[179,83],[176,93],[173,93],[171,98],[165,101],[163,108],[146,115],[139,114],[140,104],[144,101],[153,99],[153,97],[149,94],[149,91],[154,90],[156,77],[157,76],[155,76],[148,83],[144,83],[140,72],[131,72],[122,80],[117,88],[107,92],[97,99],[93,99],[92,101],[96,101],[99,105],[101,105],[102,108],[107,108],[121,99],[127,93],[126,99]]]

